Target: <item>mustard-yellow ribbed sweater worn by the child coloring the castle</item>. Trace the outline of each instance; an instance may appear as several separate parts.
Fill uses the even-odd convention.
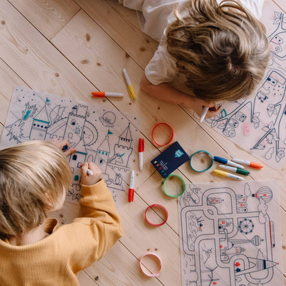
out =
[[[10,245],[0,239],[0,285],[79,285],[76,274],[98,261],[120,239],[120,218],[104,180],[82,185],[83,217],[60,227],[46,219],[41,241]]]

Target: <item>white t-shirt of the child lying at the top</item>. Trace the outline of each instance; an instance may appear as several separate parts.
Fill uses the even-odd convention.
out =
[[[217,0],[218,3],[221,1]],[[128,8],[137,10],[142,32],[160,42],[153,58],[146,65],[146,78],[153,85],[172,81],[177,74],[176,59],[166,50],[164,30],[176,20],[174,14],[176,5],[179,14],[184,17],[190,0],[120,0],[120,2]],[[263,2],[264,0],[241,0],[243,7],[252,12],[257,19],[261,17]]]

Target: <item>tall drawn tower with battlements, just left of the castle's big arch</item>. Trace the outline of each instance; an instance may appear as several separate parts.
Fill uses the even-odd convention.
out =
[[[69,141],[71,146],[75,146],[75,144],[77,144],[77,142],[79,142],[83,137],[86,116],[87,106],[82,104],[75,105],[69,113],[63,137]]]

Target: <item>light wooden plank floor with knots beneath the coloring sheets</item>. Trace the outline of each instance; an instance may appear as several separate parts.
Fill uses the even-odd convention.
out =
[[[285,0],[276,3],[286,11]],[[186,151],[190,154],[204,149],[222,157],[251,157],[205,124],[199,124],[190,109],[155,100],[140,91],[140,78],[156,46],[138,28],[135,12],[116,0],[0,1],[0,133],[15,85],[89,104],[101,102],[107,107],[112,104],[120,111],[142,118],[145,164],[139,171],[135,155],[135,199],[120,210],[124,236],[100,261],[80,272],[80,285],[181,285],[177,200],[163,194],[162,179],[148,163],[159,154],[151,139],[151,129],[156,123],[173,126],[176,140],[188,146]],[[129,71],[137,93],[135,101],[126,92],[122,67]],[[96,90],[122,92],[125,96],[91,99],[90,92]],[[187,164],[177,172],[193,182],[220,180],[207,172],[197,174]],[[267,167],[249,178],[279,181],[284,222],[285,175],[286,164],[283,164],[281,170]],[[144,222],[144,210],[152,203],[162,203],[168,208],[168,224],[154,229]],[[66,203],[59,217],[62,222],[71,221],[73,207]],[[286,224],[281,228],[286,274]],[[140,271],[138,261],[147,250],[157,252],[162,258],[164,269],[157,278],[148,278]]]

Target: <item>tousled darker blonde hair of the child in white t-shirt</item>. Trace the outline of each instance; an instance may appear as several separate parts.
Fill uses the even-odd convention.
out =
[[[167,30],[167,50],[203,100],[237,100],[260,83],[270,58],[265,27],[239,1],[193,0]]]

